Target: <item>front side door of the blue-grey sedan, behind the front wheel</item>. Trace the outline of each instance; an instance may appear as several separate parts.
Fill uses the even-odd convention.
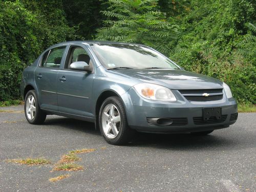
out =
[[[91,96],[95,73],[70,69],[69,66],[75,61],[87,62],[93,68],[95,66],[85,46],[70,46],[66,65],[59,70],[57,76],[58,110],[62,113],[93,118]]]

